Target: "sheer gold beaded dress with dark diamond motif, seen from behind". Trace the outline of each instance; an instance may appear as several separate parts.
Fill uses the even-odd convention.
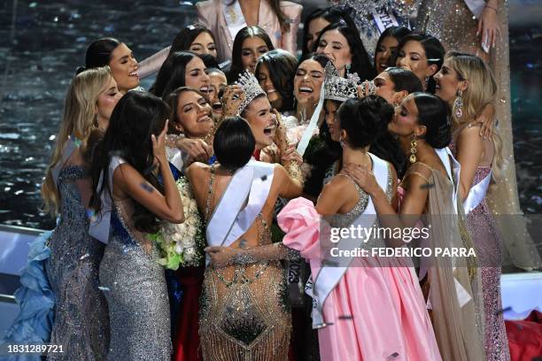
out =
[[[210,196],[213,173],[209,188]],[[205,213],[209,214],[209,203]],[[255,222],[258,246],[254,250],[260,253],[257,262],[218,269],[209,265],[205,269],[199,309],[199,338],[205,360],[288,359],[290,298],[279,259],[293,253],[282,243],[271,242],[261,212]]]

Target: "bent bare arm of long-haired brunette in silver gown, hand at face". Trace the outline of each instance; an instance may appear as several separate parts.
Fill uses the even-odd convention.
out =
[[[164,145],[166,131],[167,121],[166,127],[159,134],[158,139],[154,134],[151,135],[152,153],[158,159],[159,171],[164,179],[164,196],[145,180],[133,166],[128,164],[120,165],[115,170],[113,182],[120,187],[120,190],[134,198],[137,203],[142,204],[143,207],[156,214],[160,219],[165,219],[171,223],[182,223],[184,221],[182,200],[166,158],[166,147]]]

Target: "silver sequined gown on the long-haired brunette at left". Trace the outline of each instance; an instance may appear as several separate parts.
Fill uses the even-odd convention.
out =
[[[132,214],[131,199],[114,201],[109,243],[100,264],[111,324],[107,360],[169,361],[172,344],[164,269],[154,243],[135,229]]]

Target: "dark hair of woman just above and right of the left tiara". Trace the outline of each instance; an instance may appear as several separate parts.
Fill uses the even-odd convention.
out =
[[[292,111],[294,104],[293,79],[298,67],[298,59],[288,51],[282,49],[271,50],[259,57],[255,71],[256,76],[258,76],[259,67],[262,64],[267,65],[271,81],[273,81],[276,91],[283,100],[281,109],[277,109],[277,111]]]

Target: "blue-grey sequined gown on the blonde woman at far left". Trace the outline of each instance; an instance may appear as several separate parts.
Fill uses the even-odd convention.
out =
[[[88,180],[80,165],[67,165],[58,176],[60,220],[45,270],[56,297],[50,343],[62,344],[64,352],[51,353],[48,360],[101,360],[109,344],[107,304],[98,289],[104,247],[89,236],[83,205]]]

